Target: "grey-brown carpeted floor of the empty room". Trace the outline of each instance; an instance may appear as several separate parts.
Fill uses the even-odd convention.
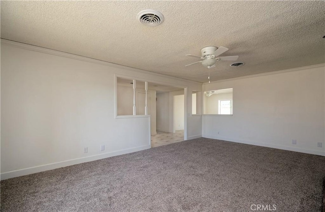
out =
[[[314,212],[324,177],[325,157],[199,138],[3,180],[1,211]]]

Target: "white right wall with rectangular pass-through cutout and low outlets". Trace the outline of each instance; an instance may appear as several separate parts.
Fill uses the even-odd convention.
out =
[[[203,90],[233,88],[233,115],[204,115],[203,137],[325,155],[324,68],[204,84]]]

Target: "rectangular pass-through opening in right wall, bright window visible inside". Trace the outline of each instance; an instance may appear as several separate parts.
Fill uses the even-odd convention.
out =
[[[232,115],[233,88],[204,92],[204,114]]]

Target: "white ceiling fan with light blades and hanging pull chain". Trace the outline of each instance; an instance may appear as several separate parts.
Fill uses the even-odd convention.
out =
[[[220,46],[219,48],[217,48],[216,46],[207,46],[201,49],[201,53],[202,56],[196,56],[196,55],[192,55],[192,54],[186,54],[186,56],[192,56],[192,57],[199,57],[203,60],[192,63],[192,64],[188,64],[186,66],[190,66],[193,64],[197,64],[197,63],[202,63],[202,65],[204,67],[207,67],[208,69],[211,69],[213,67],[215,67],[215,63],[218,60],[237,60],[239,56],[220,56],[218,57],[220,54],[228,51],[228,48],[222,47]]]

